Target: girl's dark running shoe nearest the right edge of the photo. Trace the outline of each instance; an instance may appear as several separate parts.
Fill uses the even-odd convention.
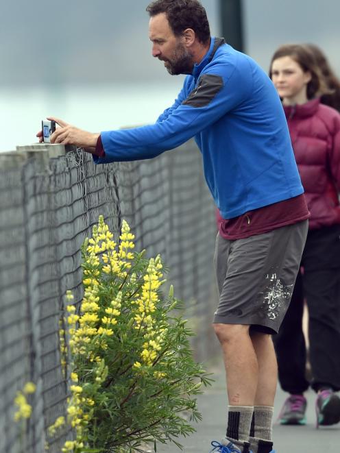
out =
[[[339,423],[340,397],[332,389],[320,391],[317,394],[315,411],[317,413],[317,428]]]

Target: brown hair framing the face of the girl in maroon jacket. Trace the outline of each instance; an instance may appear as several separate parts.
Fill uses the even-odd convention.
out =
[[[269,69],[270,78],[271,66],[273,66],[274,60],[282,57],[290,57],[301,66],[302,71],[309,71],[311,73],[311,80],[307,84],[308,99],[330,93],[326,81],[317,67],[312,51],[305,45],[286,44],[279,47],[271,58]]]

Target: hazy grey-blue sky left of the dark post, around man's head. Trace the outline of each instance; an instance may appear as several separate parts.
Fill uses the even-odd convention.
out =
[[[202,3],[215,34],[218,1]],[[164,67],[151,57],[148,4],[149,0],[3,1],[0,84],[164,77]]]

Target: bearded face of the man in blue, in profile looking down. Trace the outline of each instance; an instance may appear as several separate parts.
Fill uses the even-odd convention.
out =
[[[165,13],[151,17],[149,38],[152,42],[152,56],[164,61],[165,68],[171,75],[193,72],[193,56],[186,48],[184,38],[173,34]]]

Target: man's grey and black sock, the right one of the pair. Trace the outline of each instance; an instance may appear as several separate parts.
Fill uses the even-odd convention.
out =
[[[253,453],[269,453],[273,450],[271,435],[273,430],[272,406],[254,406],[254,417],[250,428],[250,450]]]

